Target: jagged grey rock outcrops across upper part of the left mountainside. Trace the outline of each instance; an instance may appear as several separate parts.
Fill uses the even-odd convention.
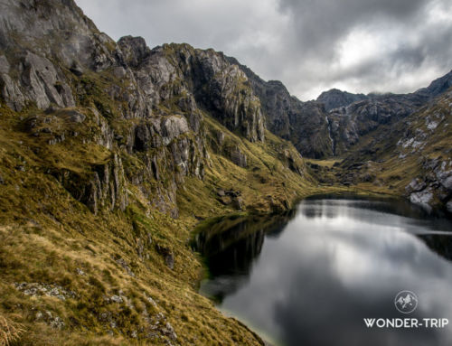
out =
[[[209,161],[205,114],[251,142],[265,141],[250,80],[220,52],[188,44],[150,49],[131,36],[114,42],[69,0],[6,0],[0,10],[1,96],[15,111],[41,109],[24,130],[48,145],[78,137],[114,153],[90,175],[54,173],[93,212],[123,210],[133,183],[177,216],[178,187],[185,176],[202,179]],[[132,156],[142,169],[127,164]],[[247,166],[240,150],[229,157]]]

